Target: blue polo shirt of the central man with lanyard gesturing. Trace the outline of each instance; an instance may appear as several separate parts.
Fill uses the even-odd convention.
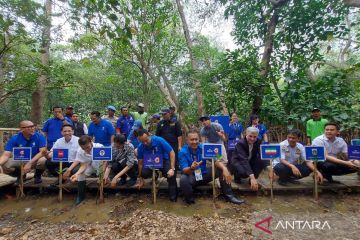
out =
[[[200,162],[203,161],[201,163],[201,165],[198,168],[201,168],[201,173],[205,174],[206,171],[206,159],[203,160],[202,158],[202,144],[199,144],[198,147],[196,148],[196,151],[193,152],[193,150],[189,147],[189,145],[184,145],[179,154],[179,165],[180,165],[180,170],[183,171],[184,168],[187,167],[191,167],[191,164],[196,161],[196,162]],[[184,173],[184,172],[182,172]]]

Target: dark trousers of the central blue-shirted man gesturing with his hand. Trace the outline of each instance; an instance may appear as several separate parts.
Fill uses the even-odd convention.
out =
[[[206,185],[212,181],[212,167],[206,168],[206,173],[202,174],[203,180],[196,181],[194,174],[181,174],[180,190],[184,194],[185,199],[192,200],[194,188],[201,185]],[[215,179],[219,177],[221,191],[225,195],[232,195],[231,184],[227,184],[223,179],[222,171],[215,168]]]

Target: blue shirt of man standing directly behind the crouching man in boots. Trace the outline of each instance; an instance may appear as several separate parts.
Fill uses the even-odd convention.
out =
[[[96,143],[104,146],[111,146],[111,136],[115,134],[115,129],[111,122],[101,119],[99,124],[93,122],[89,125],[88,135],[95,137]]]

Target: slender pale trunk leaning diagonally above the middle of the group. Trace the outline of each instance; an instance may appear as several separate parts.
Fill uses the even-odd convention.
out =
[[[198,64],[192,53],[192,41],[191,41],[191,37],[190,37],[190,31],[189,31],[189,27],[186,22],[184,9],[180,3],[180,0],[176,0],[176,5],[178,7],[178,11],[180,14],[180,18],[181,18],[181,22],[182,22],[182,26],[183,26],[183,30],[184,30],[186,44],[187,44],[187,47],[189,50],[189,56],[190,56],[191,68],[192,68],[192,78],[194,81],[195,93],[196,93],[196,98],[197,98],[197,102],[198,102],[198,111],[197,112],[198,112],[198,116],[200,117],[205,114],[205,111],[204,111],[204,99],[203,99],[203,95],[201,92],[201,82],[196,76],[198,73],[198,70],[199,70]]]

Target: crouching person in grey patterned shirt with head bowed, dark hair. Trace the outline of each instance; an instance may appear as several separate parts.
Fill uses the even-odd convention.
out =
[[[131,143],[126,142],[126,137],[123,134],[116,135],[114,138],[114,145],[112,147],[112,161],[108,163],[104,181],[105,184],[109,179],[109,174],[112,171],[114,177],[111,181],[111,187],[115,187],[120,180],[120,185],[126,183],[127,175],[131,178],[128,182],[129,186],[136,183],[137,178],[137,158],[135,156],[135,149]]]

